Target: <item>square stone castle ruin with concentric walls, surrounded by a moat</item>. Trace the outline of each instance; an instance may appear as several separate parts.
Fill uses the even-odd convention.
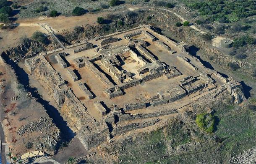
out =
[[[204,67],[184,42],[149,25],[92,41],[96,47],[84,43],[68,56],[41,53],[25,61],[86,149],[153,126],[199,98],[246,99],[240,83]]]

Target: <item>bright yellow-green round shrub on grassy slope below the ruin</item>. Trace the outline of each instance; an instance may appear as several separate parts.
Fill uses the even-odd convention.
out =
[[[207,113],[198,114],[196,116],[196,124],[207,133],[212,133],[214,131],[215,117]]]

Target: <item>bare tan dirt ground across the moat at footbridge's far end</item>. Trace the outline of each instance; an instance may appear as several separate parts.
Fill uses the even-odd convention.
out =
[[[55,33],[66,30],[73,30],[76,26],[96,25],[97,17],[106,16],[109,12],[102,12],[96,14],[85,14],[82,16],[65,17],[59,16],[57,18],[38,17],[33,19],[19,19],[16,21],[18,27],[11,30],[0,30],[0,49],[1,51],[15,47],[21,43],[21,38],[30,38],[35,31],[47,33],[38,23],[47,23],[52,27]]]

